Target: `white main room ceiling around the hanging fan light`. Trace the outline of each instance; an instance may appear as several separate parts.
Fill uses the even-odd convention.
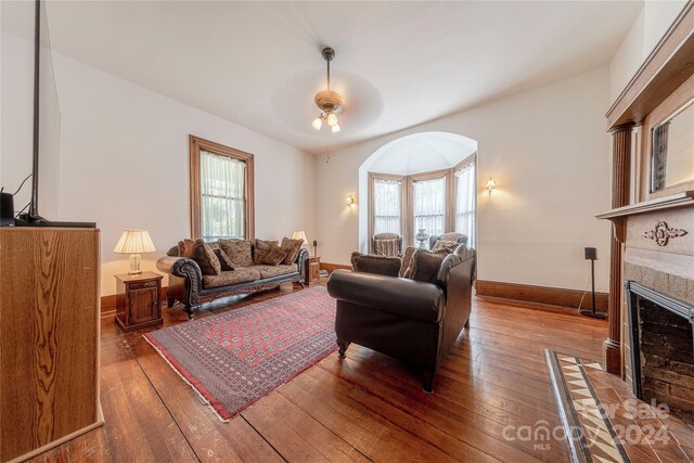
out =
[[[50,1],[48,16],[54,50],[318,153],[607,63],[642,5]],[[335,136],[310,126],[324,46]]]

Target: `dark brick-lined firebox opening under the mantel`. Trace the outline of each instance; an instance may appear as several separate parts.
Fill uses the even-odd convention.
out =
[[[694,307],[627,281],[634,395],[694,412]]]

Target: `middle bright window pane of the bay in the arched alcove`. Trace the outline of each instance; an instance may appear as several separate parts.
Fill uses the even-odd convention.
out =
[[[412,182],[412,236],[420,229],[429,235],[446,233],[446,183],[447,177]]]

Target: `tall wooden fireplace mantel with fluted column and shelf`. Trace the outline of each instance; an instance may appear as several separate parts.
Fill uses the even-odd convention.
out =
[[[609,331],[607,339],[603,343],[603,360],[607,372],[620,376],[624,374],[621,308],[627,219],[633,215],[694,205],[690,184],[680,185],[677,193],[672,191],[672,195],[657,198],[659,194],[650,196],[642,191],[641,180],[646,178],[647,166],[639,156],[647,145],[642,142],[639,147],[637,144],[640,154],[634,158],[637,160],[632,171],[632,131],[644,121],[648,123],[648,117],[678,92],[681,91],[684,97],[690,98],[690,90],[694,88],[690,87],[693,76],[694,0],[690,0],[605,115],[607,130],[613,138],[613,208],[596,217],[614,223],[615,236],[611,240],[609,249]],[[641,131],[645,133],[648,128]],[[635,187],[637,201],[641,201],[638,204],[629,204],[632,184]]]

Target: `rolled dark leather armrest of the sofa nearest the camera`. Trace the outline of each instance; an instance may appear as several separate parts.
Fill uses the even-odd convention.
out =
[[[409,319],[438,322],[444,316],[444,291],[432,284],[396,276],[335,270],[327,293],[338,300]]]

